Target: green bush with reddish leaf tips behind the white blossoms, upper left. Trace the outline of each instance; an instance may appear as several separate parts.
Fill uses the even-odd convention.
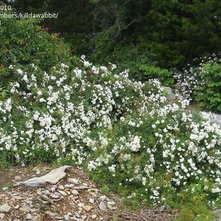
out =
[[[70,57],[68,47],[37,26],[38,19],[0,18],[0,86],[6,87],[13,76],[10,64],[29,65],[35,63],[48,70],[58,62]]]

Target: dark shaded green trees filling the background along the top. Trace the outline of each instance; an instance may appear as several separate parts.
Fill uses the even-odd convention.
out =
[[[44,23],[68,40],[73,38],[75,54],[91,55],[99,63],[115,62],[115,57],[133,62],[123,54],[126,47],[132,54],[138,52],[136,59],[145,57],[141,65],[181,68],[221,49],[217,0],[15,0],[14,7],[59,13],[58,19]]]

